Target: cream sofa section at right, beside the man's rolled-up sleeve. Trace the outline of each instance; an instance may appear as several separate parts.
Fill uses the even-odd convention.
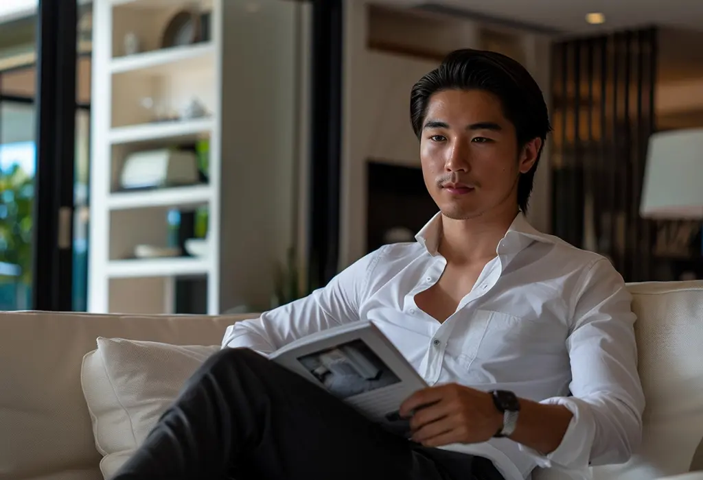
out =
[[[643,441],[625,465],[593,469],[596,480],[643,480],[702,465],[703,282],[629,285],[638,370],[647,404]]]

